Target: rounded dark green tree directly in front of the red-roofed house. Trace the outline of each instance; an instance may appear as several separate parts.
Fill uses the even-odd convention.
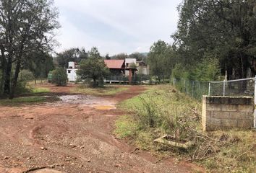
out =
[[[92,48],[89,58],[81,61],[77,74],[81,76],[81,79],[93,80],[93,87],[103,85],[103,79],[108,76],[109,69],[97,48]]]

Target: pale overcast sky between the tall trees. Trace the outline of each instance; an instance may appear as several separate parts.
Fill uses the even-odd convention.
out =
[[[96,46],[101,54],[148,52],[171,43],[182,0],[55,0],[61,29],[57,52]]]

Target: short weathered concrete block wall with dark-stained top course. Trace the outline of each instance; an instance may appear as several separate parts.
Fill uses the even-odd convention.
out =
[[[203,130],[249,129],[254,120],[252,97],[202,97]]]

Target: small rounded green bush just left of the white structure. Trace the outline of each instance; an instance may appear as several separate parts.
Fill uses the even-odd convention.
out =
[[[51,82],[57,86],[67,85],[67,73],[64,68],[56,68],[56,70],[52,72]]]

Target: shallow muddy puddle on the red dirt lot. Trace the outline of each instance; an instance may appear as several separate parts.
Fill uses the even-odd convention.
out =
[[[63,95],[60,96],[60,103],[79,104],[81,106],[94,107],[95,110],[114,110],[115,102],[104,99],[103,97],[95,97],[91,95]]]

